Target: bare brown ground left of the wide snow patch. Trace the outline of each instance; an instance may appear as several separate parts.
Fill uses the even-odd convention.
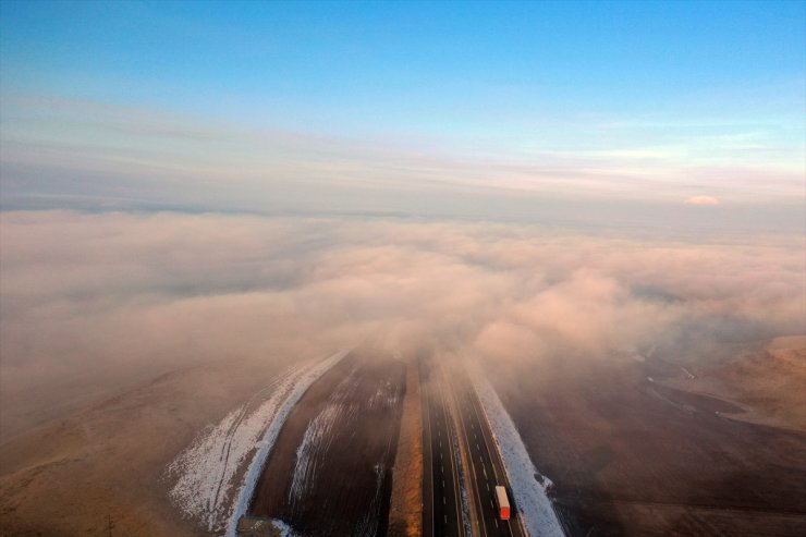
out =
[[[222,362],[162,375],[0,447],[0,535],[206,535],[168,500],[166,465],[282,369]]]

